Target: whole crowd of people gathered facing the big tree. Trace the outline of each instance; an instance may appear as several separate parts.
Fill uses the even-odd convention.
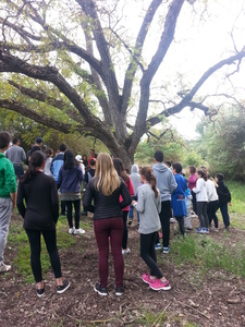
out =
[[[62,278],[57,249],[58,190],[61,190],[62,214],[66,210],[69,233],[82,234],[85,232],[79,228],[82,182],[86,185],[83,207],[84,213],[90,211],[94,215],[94,231],[99,253],[99,282],[95,284],[95,291],[100,295],[108,295],[109,244],[111,244],[114,264],[115,295],[123,294],[123,255],[131,252],[127,247],[127,226],[132,222],[134,208],[138,217],[140,257],[149,268],[149,272],[144,274],[142,279],[156,291],[171,289],[170,282],[157,265],[156,250],[161,249],[158,232],[160,228],[162,230],[162,251],[167,254],[170,251],[170,219],[172,216],[177,220],[182,234],[185,232],[186,223],[191,229],[188,217],[191,198],[194,211],[198,214],[200,220],[197,232],[207,232],[209,228],[207,223],[211,223],[212,219],[218,228],[218,219],[213,216],[215,208],[217,209],[217,198],[215,199],[213,192],[217,190],[219,196],[226,194],[228,189],[223,184],[222,174],[217,174],[217,189],[209,179],[213,189],[208,181],[206,182],[208,172],[205,168],[197,171],[195,182],[193,177],[195,172],[191,168],[187,185],[186,179],[182,174],[182,165],[175,162],[170,169],[163,164],[163,153],[157,150],[152,167],[143,167],[139,171],[137,165],[134,165],[132,173],[128,175],[120,158],[112,158],[106,153],[100,153],[96,157],[95,152],[91,150],[91,156],[86,161],[85,157],[75,158],[64,144],[60,146],[59,154],[52,158],[50,149],[46,150],[46,156],[44,155],[39,147],[40,143],[37,145],[39,141],[41,140],[36,140],[36,148],[27,154],[28,168],[26,172],[22,171],[22,174],[19,174],[19,165],[13,161],[12,165],[7,159],[11,150],[9,148],[10,134],[0,132],[0,271],[4,272],[11,269],[11,266],[3,262],[3,252],[11,211],[16,205],[24,218],[24,229],[29,240],[30,265],[38,296],[45,294],[40,264],[41,234],[54,272],[57,292],[63,293],[70,287],[70,282]],[[23,152],[17,149],[17,153],[21,154],[20,160],[25,160]],[[17,196],[15,174],[20,179]],[[229,196],[226,201],[229,203]],[[216,206],[213,204],[207,209],[211,202],[216,202]],[[73,207],[75,226],[73,226]],[[222,202],[220,202],[220,208],[224,215],[225,206],[222,206]],[[210,213],[210,218],[207,218],[209,216],[206,213]],[[229,218],[224,223],[226,227],[230,225]]]

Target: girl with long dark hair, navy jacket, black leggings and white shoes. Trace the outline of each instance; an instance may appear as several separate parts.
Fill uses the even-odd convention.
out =
[[[81,183],[83,171],[75,156],[71,150],[64,153],[64,165],[60,168],[58,187],[61,190],[61,201],[64,201],[68,208],[66,217],[70,234],[83,234],[85,231],[79,228],[81,216]],[[72,205],[75,209],[75,228],[72,221]]]

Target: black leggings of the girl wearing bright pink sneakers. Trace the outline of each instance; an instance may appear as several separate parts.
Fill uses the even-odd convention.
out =
[[[160,279],[163,277],[163,275],[157,265],[157,256],[155,251],[156,237],[157,232],[150,234],[140,234],[140,257],[150,268],[150,276],[156,276]]]

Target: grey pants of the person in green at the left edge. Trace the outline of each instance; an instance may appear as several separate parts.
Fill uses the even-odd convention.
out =
[[[0,197],[0,266],[3,264],[3,254],[9,234],[10,217],[13,209],[12,199]]]

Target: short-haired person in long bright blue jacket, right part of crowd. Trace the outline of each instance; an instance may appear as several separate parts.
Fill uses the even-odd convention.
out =
[[[179,223],[182,235],[184,235],[184,233],[185,233],[184,216],[187,215],[186,204],[185,204],[185,190],[188,189],[188,185],[187,185],[186,179],[181,174],[182,165],[180,162],[173,164],[172,171],[174,174],[174,179],[177,183],[176,190],[171,195],[173,216],[175,217],[175,219]]]

